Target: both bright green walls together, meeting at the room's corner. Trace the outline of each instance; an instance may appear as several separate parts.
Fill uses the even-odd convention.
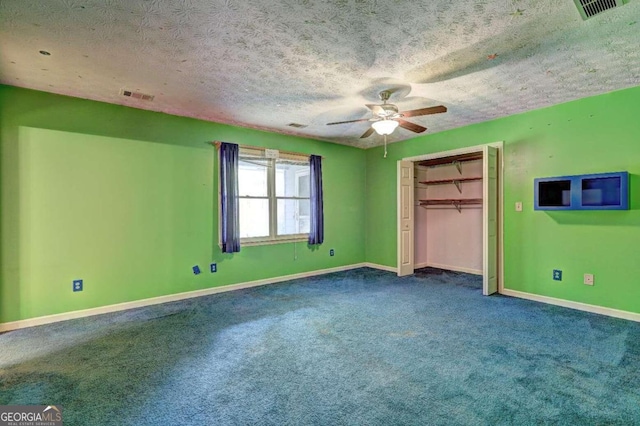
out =
[[[396,160],[501,140],[505,287],[640,312],[639,110],[636,87],[392,144],[384,159],[382,148],[0,86],[0,323],[363,261],[395,266]],[[325,244],[222,255],[211,140],[323,155]],[[535,177],[620,170],[631,174],[629,211],[533,211]]]

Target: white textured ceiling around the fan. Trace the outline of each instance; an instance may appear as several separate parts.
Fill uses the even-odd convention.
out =
[[[586,21],[573,0],[2,0],[0,82],[367,148],[370,123],[326,123],[383,89],[445,105],[408,119],[435,133],[640,85],[637,21],[640,0]]]

